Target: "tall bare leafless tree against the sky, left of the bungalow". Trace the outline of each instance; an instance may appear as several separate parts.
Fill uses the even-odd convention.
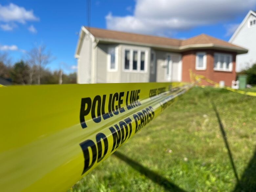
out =
[[[50,52],[46,53],[46,47],[40,45],[34,47],[30,52],[28,52],[28,63],[30,64],[30,82],[33,81],[33,75],[35,74],[35,69],[37,71],[37,84],[41,84],[42,70],[53,60],[53,56]]]

